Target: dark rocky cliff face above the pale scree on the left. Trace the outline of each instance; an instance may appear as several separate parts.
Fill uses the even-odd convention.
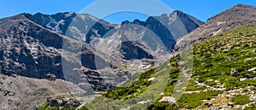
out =
[[[3,31],[0,46],[1,59],[3,59],[2,74],[19,74],[41,79],[45,78],[45,74],[50,73],[63,79],[61,57],[67,59],[68,62],[78,57],[72,53],[72,49],[79,48],[77,42],[71,42],[66,36],[61,36],[33,23],[26,19],[26,14],[1,19],[1,30]],[[70,43],[71,50],[61,49],[63,41]],[[93,58],[102,59],[95,55],[96,52],[91,47],[84,46],[81,52],[82,61],[86,62],[82,63],[82,66],[88,69],[95,69]],[[66,54],[73,55],[67,56]],[[101,62],[104,63],[105,60],[102,59]]]

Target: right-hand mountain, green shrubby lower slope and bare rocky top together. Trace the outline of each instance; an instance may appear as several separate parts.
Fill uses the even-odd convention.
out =
[[[84,107],[255,109],[255,14],[255,7],[238,4],[212,17],[177,41],[176,56],[169,61],[143,73],[132,85],[102,93]],[[193,51],[184,51],[186,47]],[[186,60],[188,56],[193,59]],[[160,91],[162,86],[165,90]]]

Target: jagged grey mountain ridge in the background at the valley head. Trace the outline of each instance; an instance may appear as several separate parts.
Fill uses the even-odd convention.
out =
[[[103,21],[102,19],[97,19],[90,14],[75,14],[73,12],[58,13],[52,15],[40,13],[34,15],[26,14],[26,17],[38,25],[42,25],[48,30],[53,30],[58,34],[71,36],[78,40],[85,41],[86,43],[89,43],[91,46],[95,46],[96,48],[102,48],[101,45],[98,45],[98,41],[102,41],[102,38],[110,37],[111,39],[113,37],[113,41],[116,41],[117,39],[115,36],[121,35],[121,37],[123,37],[121,38],[122,40],[120,40],[121,42],[123,42],[125,39],[125,41],[131,42],[130,45],[138,44],[142,45],[141,47],[144,47],[139,48],[134,46],[136,47],[134,49],[137,50],[137,53],[139,53],[139,50],[143,51],[139,53],[144,53],[143,58],[148,58],[147,56],[158,56],[154,53],[157,49],[157,52],[172,52],[177,38],[189,33],[191,30],[195,30],[202,24],[200,20],[195,19],[189,14],[184,14],[182,11],[178,10],[174,11],[169,16],[167,16],[167,14],[162,14],[160,16],[149,17],[146,21],[139,21],[137,19],[133,22],[124,21],[121,25],[109,24],[108,22]],[[132,27],[128,27],[128,24],[133,25]],[[139,27],[134,25],[138,25]],[[133,28],[133,30],[130,28]],[[145,28],[148,28],[148,30]],[[155,38],[152,38],[151,36],[153,34],[156,35],[154,37],[159,37],[160,41],[155,41]],[[134,40],[134,37],[139,38]],[[138,41],[138,39],[142,40]],[[108,39],[108,42],[109,41],[111,42],[111,40]],[[147,46],[145,46],[145,43],[143,44],[143,42],[147,42]],[[162,42],[163,45],[156,46],[159,45],[159,42]],[[116,47],[117,45],[121,45],[120,47],[122,47],[124,44],[127,43],[119,43],[114,45],[110,43],[108,44],[108,47]],[[109,51],[120,52],[119,54],[123,54],[123,58],[125,59],[140,58],[138,57],[139,54],[135,54],[134,56],[129,56],[129,58],[127,58],[127,54],[134,52],[131,52],[131,50],[129,51],[130,53],[124,52],[123,48],[120,47],[117,47],[116,50]],[[163,50],[162,48],[166,48],[166,50]],[[160,52],[160,54],[162,54],[162,52]]]

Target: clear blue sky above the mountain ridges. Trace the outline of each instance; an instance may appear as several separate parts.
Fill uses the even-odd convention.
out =
[[[95,0],[0,0],[0,18],[20,13],[55,14],[59,12],[77,12],[95,2]],[[182,10],[184,13],[195,16],[197,19],[207,21],[210,17],[237,3],[256,6],[256,0],[160,0],[173,10]],[[108,4],[106,4],[108,6]],[[138,4],[140,7],[143,4]],[[154,6],[154,4],[153,4]],[[128,19],[147,19],[147,15],[136,13],[112,14],[106,18],[110,23],[120,23]]]

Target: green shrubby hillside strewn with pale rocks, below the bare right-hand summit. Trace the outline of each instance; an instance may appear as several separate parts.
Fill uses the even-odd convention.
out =
[[[245,107],[253,107],[256,99],[253,98],[256,85],[256,26],[246,25],[212,36],[206,41],[196,44],[193,47],[194,63],[193,74],[186,91],[177,99],[176,102],[166,102],[164,96],[172,96],[174,88],[177,85],[183,85],[183,82],[174,81],[180,73],[180,55],[172,58],[170,62],[161,65],[164,68],[151,69],[143,73],[133,85],[128,87],[119,87],[104,93],[111,99],[119,99],[125,101],[133,99],[133,106],[129,108],[144,107],[137,101],[137,96],[144,95],[144,91],[150,90],[154,81],[162,81],[161,77],[154,77],[158,71],[171,66],[168,84],[166,90],[161,93],[157,101],[148,109],[242,109]],[[234,75],[234,71],[236,75]],[[166,76],[166,75],[165,75]],[[152,84],[151,84],[152,83]],[[154,94],[155,95],[155,94]],[[148,96],[154,96],[149,94]],[[239,98],[240,97],[240,98]],[[241,98],[244,97],[244,98]],[[88,103],[85,107],[105,108],[102,103],[108,103],[109,107],[116,107],[117,103],[111,102],[108,98],[99,97],[92,103]],[[95,102],[95,103],[94,103]],[[134,103],[135,102],[135,103]],[[147,105],[149,101],[143,103]],[[238,104],[241,103],[241,104]],[[125,107],[119,105],[119,107]],[[235,106],[234,106],[235,105]],[[241,106],[236,106],[241,105]]]

